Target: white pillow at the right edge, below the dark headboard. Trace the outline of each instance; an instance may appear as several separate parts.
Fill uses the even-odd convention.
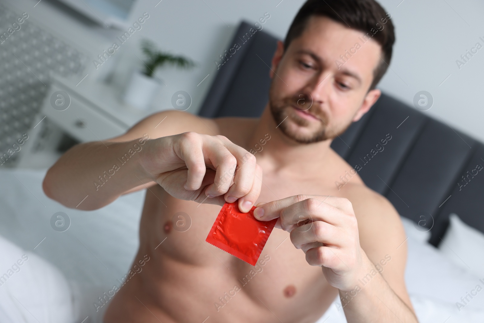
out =
[[[484,277],[484,234],[462,222],[454,213],[450,215],[450,225],[439,250],[457,266]]]

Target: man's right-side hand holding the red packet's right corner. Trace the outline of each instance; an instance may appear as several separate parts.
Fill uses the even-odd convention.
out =
[[[322,266],[328,282],[341,291],[354,289],[362,273],[371,268],[348,199],[296,195],[260,205],[254,215],[263,221],[278,217],[276,227],[289,231],[291,242],[304,251],[306,261]]]

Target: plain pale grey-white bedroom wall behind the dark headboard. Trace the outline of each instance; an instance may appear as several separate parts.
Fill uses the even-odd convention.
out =
[[[148,12],[150,18],[144,23],[143,29],[123,45],[119,55],[116,54],[120,60],[115,80],[121,86],[132,68],[141,65],[133,53],[141,57],[139,41],[150,38],[162,49],[183,54],[198,63],[196,68],[189,71],[173,68],[156,71],[166,86],[162,85],[156,97],[155,108],[171,108],[172,94],[184,90],[193,98],[189,109],[192,113],[197,112],[215,77],[216,66],[213,61],[227,48],[241,19],[255,22],[268,12],[271,18],[265,23],[264,30],[282,39],[303,3],[303,0],[158,1],[138,0],[136,3],[130,21],[134,22],[143,12]],[[83,27],[73,18],[66,18],[58,12],[47,0],[33,8],[36,2],[17,0],[15,5],[22,10],[26,8],[24,11],[73,42],[89,44],[84,46],[89,47],[95,55],[120,33]],[[417,92],[430,92],[434,97],[434,105],[424,113],[484,141],[484,48],[461,66],[460,70],[455,62],[477,42],[484,46],[484,41],[479,39],[480,36],[484,39],[484,2],[381,0],[380,3],[392,14],[397,41],[391,68],[379,88],[409,105],[412,105]],[[101,73],[100,70],[93,70],[92,75]],[[209,77],[197,86],[208,74]]]

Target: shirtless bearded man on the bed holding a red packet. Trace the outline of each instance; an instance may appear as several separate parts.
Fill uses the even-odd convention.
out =
[[[375,36],[335,64],[373,25]],[[314,323],[338,293],[349,323],[417,322],[399,216],[358,175],[336,187],[352,167],[330,148],[380,96],[393,41],[374,0],[309,0],[277,45],[260,118],[162,111],[64,154],[43,188],[65,206],[88,195],[77,208],[94,210],[148,188],[135,263],[150,260],[116,291],[105,322]],[[205,242],[223,203],[237,199],[242,212],[260,205],[256,217],[279,218],[257,267]],[[175,230],[178,212],[190,229]]]

